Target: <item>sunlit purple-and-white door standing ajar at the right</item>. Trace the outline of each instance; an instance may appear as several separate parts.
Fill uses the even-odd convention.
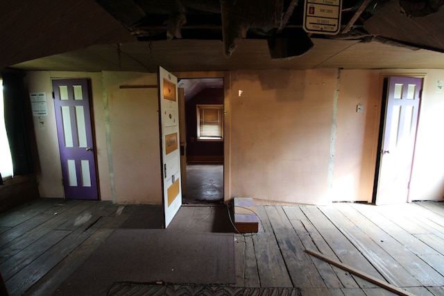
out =
[[[390,77],[376,204],[407,202],[422,78]]]

